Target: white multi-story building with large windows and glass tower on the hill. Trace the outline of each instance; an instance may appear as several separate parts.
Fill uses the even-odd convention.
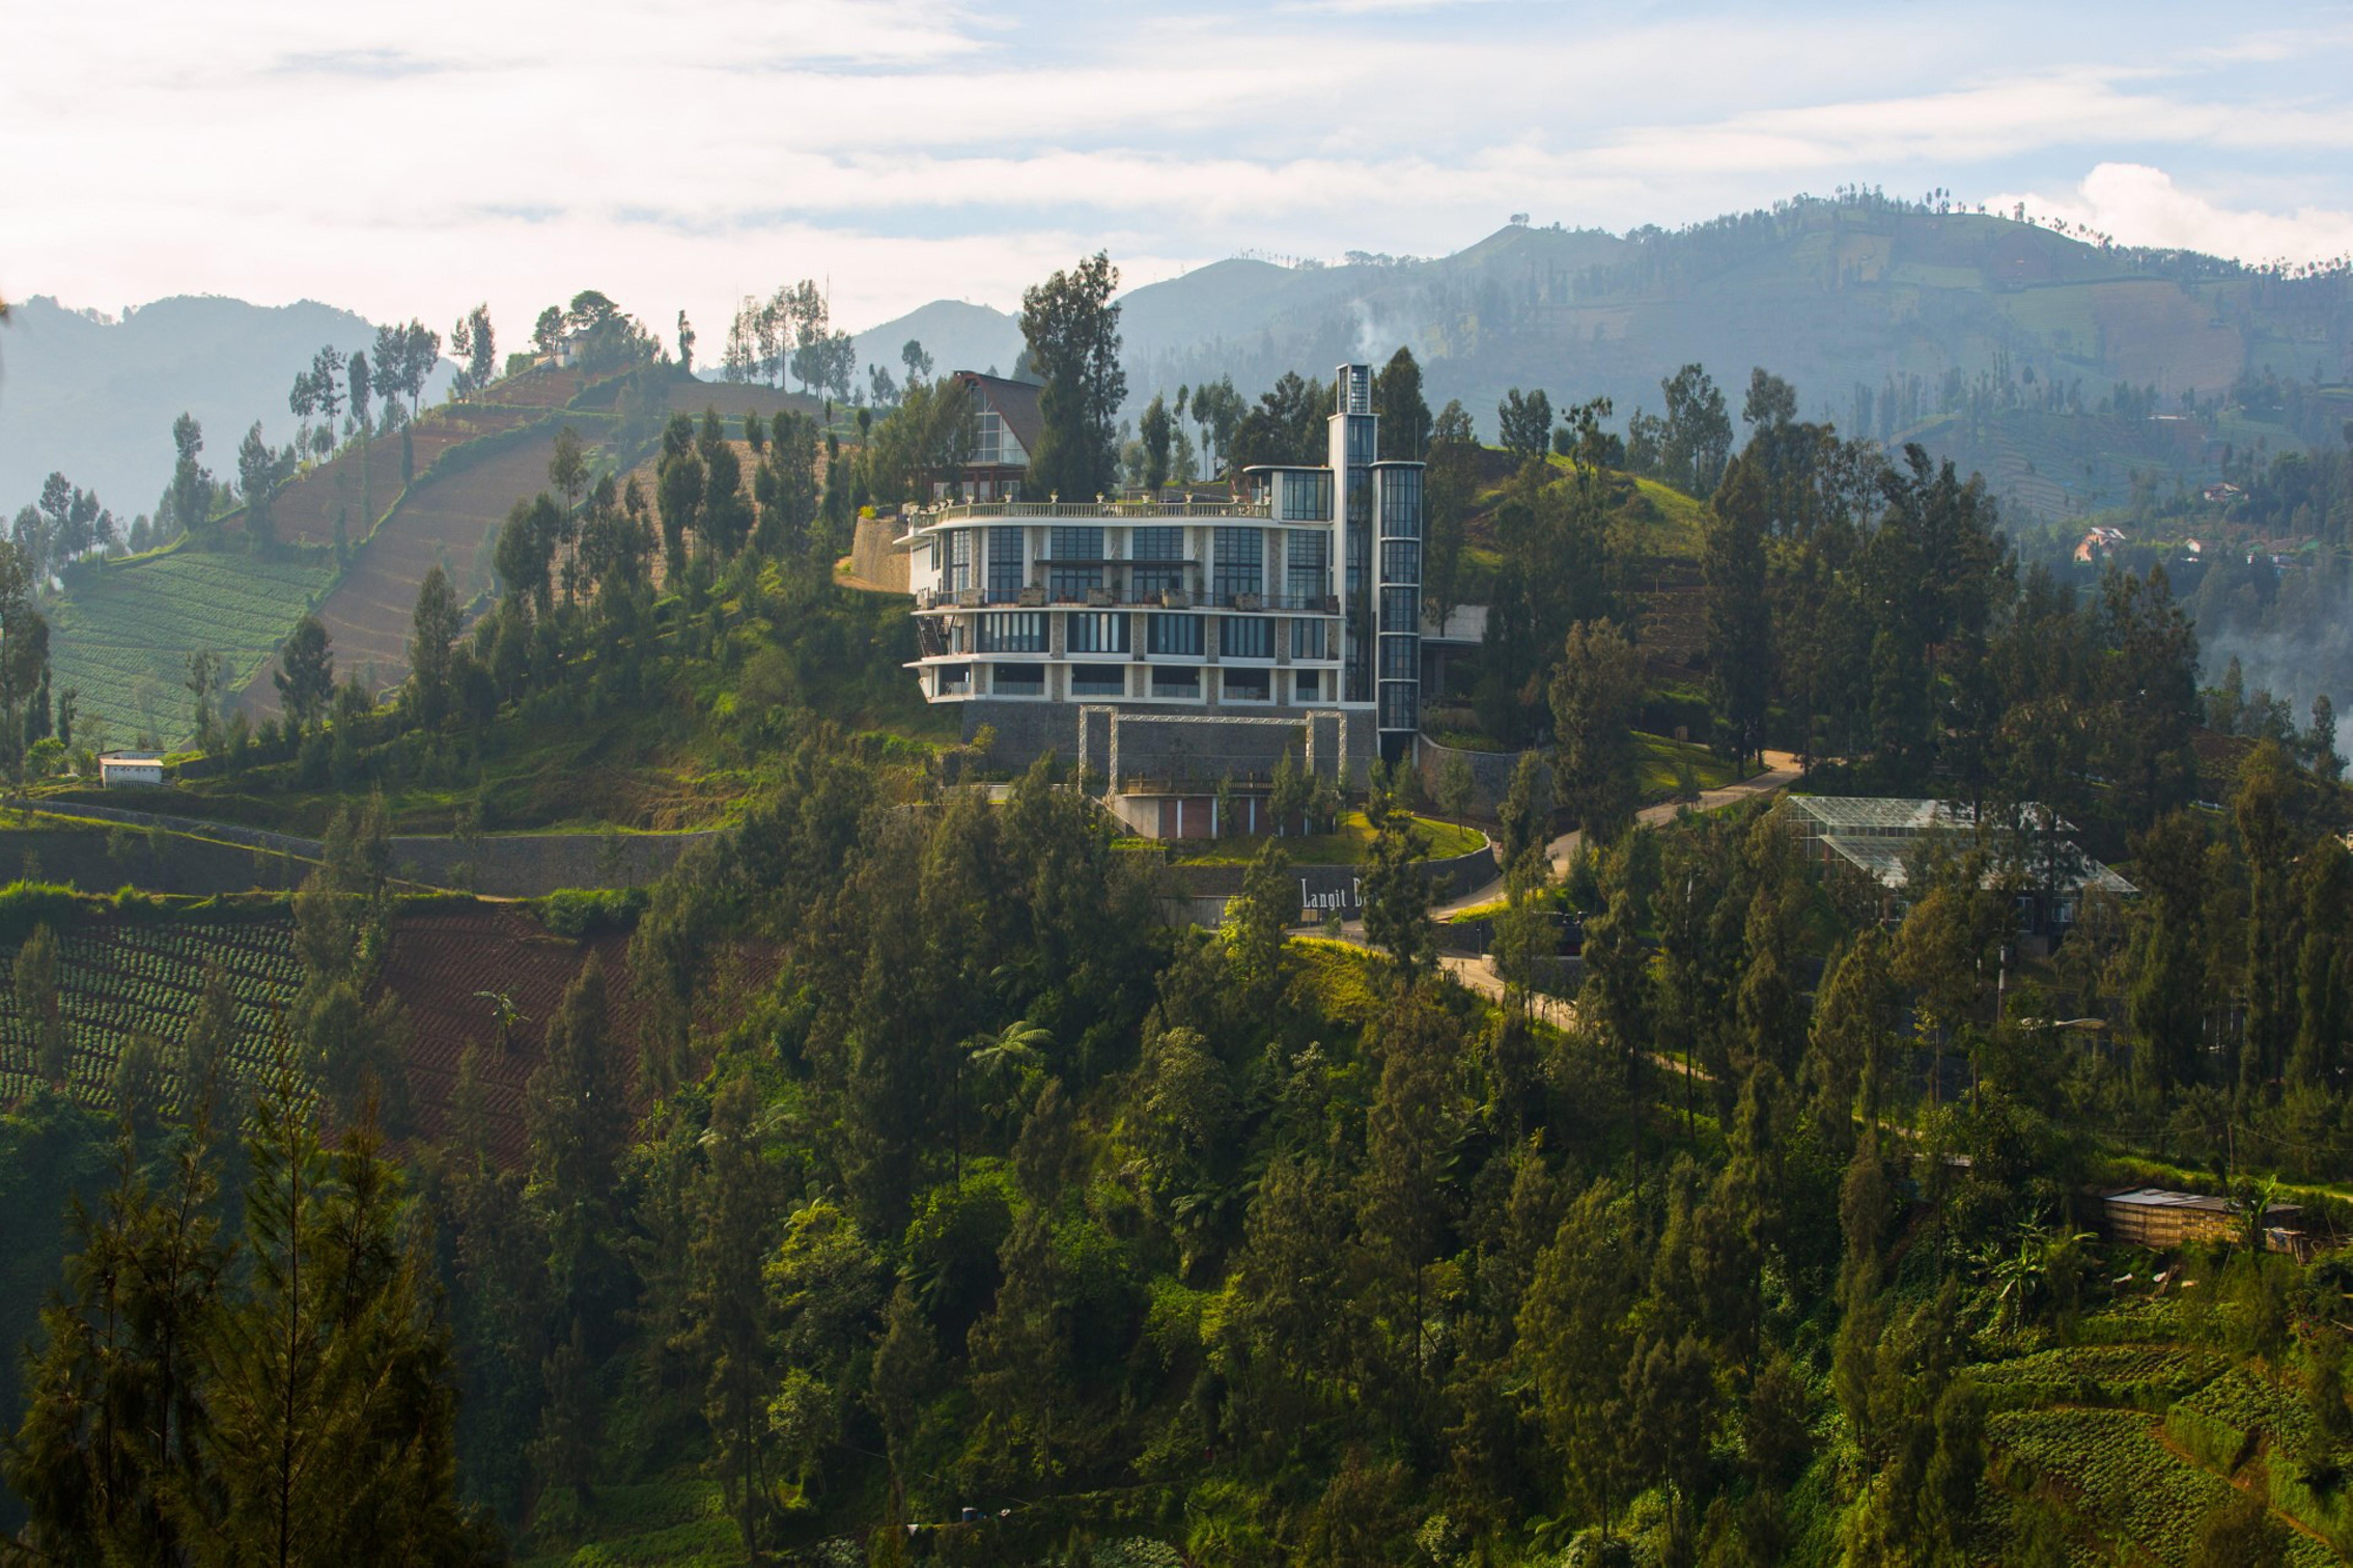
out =
[[[901,534],[913,669],[929,702],[965,706],[967,737],[986,723],[1012,756],[1195,779],[1264,763],[1301,725],[1327,768],[1412,746],[1421,464],[1379,459],[1367,365],[1339,367],[1320,466],[1249,469],[1217,499],[1031,497],[1002,473],[991,490]]]

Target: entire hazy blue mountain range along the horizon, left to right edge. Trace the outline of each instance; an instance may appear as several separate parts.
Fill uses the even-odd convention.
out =
[[[1555,405],[1609,396],[1619,421],[1657,410],[1659,379],[1699,360],[1727,388],[1753,365],[1791,379],[1807,417],[1897,436],[1955,388],[2071,388],[2094,407],[2115,384],[2214,396],[2245,374],[2353,379],[2353,285],[2282,278],[2186,252],[2118,250],[2089,235],[1974,212],[1802,200],[1628,235],[1501,228],[1442,259],[1351,257],[1334,266],[1219,261],[1122,297],[1129,400],[1231,374],[1245,396],[1287,370],[1421,358],[1431,407],[1461,398],[1482,431],[1511,386]],[[33,299],[0,337],[0,504],[49,469],[120,513],[153,506],[169,476],[169,421],[193,410],[226,471],[254,419],[292,431],[287,386],[322,341],[372,327],[318,304],[165,299],[120,323]],[[939,299],[856,334],[859,365],[901,372],[920,339],[936,370],[1012,372],[1012,315]]]

